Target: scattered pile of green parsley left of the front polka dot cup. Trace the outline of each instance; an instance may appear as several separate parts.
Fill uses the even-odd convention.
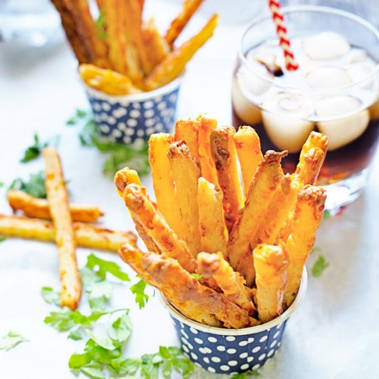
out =
[[[178,371],[183,378],[189,378],[194,364],[183,356],[178,347],[163,347],[155,354],[145,354],[140,358],[126,358],[123,348],[132,334],[132,321],[128,309],[107,311],[106,307],[112,296],[112,283],[107,278],[113,277],[128,282],[129,276],[116,263],[103,260],[90,254],[87,263],[81,269],[85,293],[91,307],[90,314],[79,310],[59,308],[51,311],[45,323],[58,331],[70,331],[68,338],[81,340],[87,337],[82,353],[70,356],[68,365],[73,371],[79,371],[94,379],[119,378],[138,374],[145,379],[157,379],[161,370],[166,378],[172,371]],[[136,295],[136,303],[143,307],[149,298],[145,294],[145,283],[141,278],[130,289]],[[59,306],[59,292],[51,287],[43,287],[44,300]],[[103,320],[109,320],[104,329]],[[101,322],[101,325],[98,325]]]

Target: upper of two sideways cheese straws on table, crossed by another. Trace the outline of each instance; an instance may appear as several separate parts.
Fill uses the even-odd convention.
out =
[[[11,189],[8,192],[8,203],[14,212],[21,210],[28,217],[51,220],[49,203],[43,198],[36,198],[18,189]],[[91,205],[70,204],[69,207],[72,221],[93,223],[104,215],[99,207]]]

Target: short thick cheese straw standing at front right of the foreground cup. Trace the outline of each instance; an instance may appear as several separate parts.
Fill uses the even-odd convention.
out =
[[[268,322],[282,313],[288,254],[283,246],[262,244],[254,249],[253,256],[258,316],[260,321]]]

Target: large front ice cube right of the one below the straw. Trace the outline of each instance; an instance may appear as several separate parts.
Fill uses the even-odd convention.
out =
[[[361,108],[362,101],[348,95],[328,96],[316,103],[315,111],[321,119],[333,119],[317,123],[320,132],[329,137],[329,150],[347,145],[365,132],[370,116],[368,110]]]

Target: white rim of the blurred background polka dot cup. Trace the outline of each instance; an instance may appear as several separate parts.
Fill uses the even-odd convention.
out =
[[[125,94],[125,95],[111,95],[101,90],[96,90],[95,88],[92,88],[90,85],[85,83],[85,81],[83,81],[80,74],[79,74],[79,78],[85,90],[93,97],[96,97],[96,99],[132,102],[132,101],[150,100],[150,99],[153,99],[154,97],[162,96],[164,94],[167,94],[176,90],[176,88],[178,88],[181,85],[184,74],[185,72],[183,72],[183,74],[179,75],[173,81],[170,81],[170,83],[163,85],[163,87],[156,88],[156,90],[141,92],[139,94]]]

